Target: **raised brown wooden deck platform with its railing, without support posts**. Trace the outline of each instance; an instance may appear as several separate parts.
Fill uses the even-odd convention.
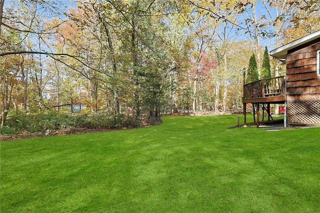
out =
[[[266,78],[243,85],[242,103],[284,103],[284,76]]]

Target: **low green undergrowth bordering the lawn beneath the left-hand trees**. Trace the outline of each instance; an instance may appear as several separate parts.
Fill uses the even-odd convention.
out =
[[[110,116],[107,114],[83,115],[61,114],[44,112],[38,114],[20,114],[9,116],[0,134],[29,134],[45,130],[63,130],[69,128],[83,129],[117,129],[136,127],[130,116],[120,114]]]

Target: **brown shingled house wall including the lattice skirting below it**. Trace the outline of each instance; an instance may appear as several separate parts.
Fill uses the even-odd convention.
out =
[[[286,101],[288,125],[320,124],[320,76],[317,54],[320,38],[288,51]]]

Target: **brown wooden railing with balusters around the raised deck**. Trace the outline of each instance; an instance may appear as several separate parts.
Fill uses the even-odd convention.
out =
[[[265,78],[243,85],[243,98],[265,98],[284,95],[284,76]]]

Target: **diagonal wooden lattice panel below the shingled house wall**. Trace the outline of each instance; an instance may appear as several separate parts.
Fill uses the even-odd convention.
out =
[[[320,100],[288,101],[287,116],[288,124],[320,124]]]

